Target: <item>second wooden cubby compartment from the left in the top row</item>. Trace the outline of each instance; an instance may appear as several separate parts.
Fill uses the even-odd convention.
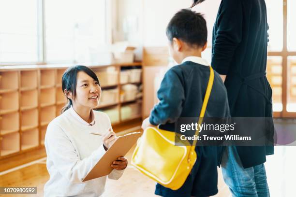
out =
[[[37,70],[23,70],[21,71],[21,90],[37,88]]]

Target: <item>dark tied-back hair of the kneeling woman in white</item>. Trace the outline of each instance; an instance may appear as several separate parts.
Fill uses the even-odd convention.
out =
[[[89,67],[86,66],[81,66],[81,65],[77,65],[77,66],[73,66],[68,68],[63,76],[62,76],[62,91],[64,93],[64,90],[66,89],[67,92],[72,92],[73,95],[73,99],[76,98],[76,85],[77,85],[77,73],[79,71],[83,71],[86,74],[88,74],[91,78],[93,78],[96,82],[99,83],[99,79],[97,77],[97,75],[94,73],[93,70],[91,70]],[[67,95],[66,95],[67,96]],[[61,110],[60,113],[64,113],[66,110],[70,109],[71,105],[72,105],[72,100],[68,99],[68,103],[66,104],[66,106]]]

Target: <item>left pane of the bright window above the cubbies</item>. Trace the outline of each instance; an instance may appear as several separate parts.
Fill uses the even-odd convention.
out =
[[[37,62],[38,0],[0,0],[0,64]]]

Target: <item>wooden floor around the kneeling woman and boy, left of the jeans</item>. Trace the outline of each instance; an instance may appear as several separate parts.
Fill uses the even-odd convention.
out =
[[[131,159],[134,147],[126,155]],[[29,167],[0,176],[0,186],[37,186],[37,195],[2,195],[2,197],[43,197],[44,184],[49,179],[45,159]],[[118,180],[107,180],[104,197],[154,197],[155,182],[148,179],[131,165]],[[219,174],[219,193],[216,197],[228,197],[229,191]],[[1,195],[0,195],[1,197]]]

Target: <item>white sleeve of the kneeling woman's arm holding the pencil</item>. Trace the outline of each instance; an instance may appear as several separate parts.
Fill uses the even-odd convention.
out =
[[[59,173],[72,183],[82,183],[88,172],[105,153],[102,144],[89,157],[81,160],[68,136],[54,124],[49,124],[47,127],[45,149],[47,159],[52,161]]]

